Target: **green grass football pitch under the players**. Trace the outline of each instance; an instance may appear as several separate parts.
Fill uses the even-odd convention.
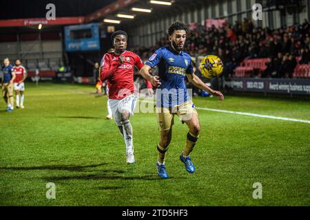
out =
[[[174,118],[166,157],[169,179],[156,174],[155,113],[135,113],[136,163],[107,97],[94,87],[27,83],[25,109],[7,113],[0,102],[1,206],[310,206],[310,124],[222,109],[310,120],[310,102],[225,96],[194,98],[201,132],[192,153],[196,173],[178,159],[187,126]],[[48,183],[55,199],[47,199]],[[261,199],[254,199],[260,183]]]

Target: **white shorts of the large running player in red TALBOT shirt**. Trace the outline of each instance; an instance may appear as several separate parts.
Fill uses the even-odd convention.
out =
[[[137,100],[138,97],[136,94],[131,94],[123,99],[109,99],[113,118],[117,126],[121,126],[121,113],[123,111],[128,111],[130,112],[130,115],[134,115],[134,108],[136,107]]]

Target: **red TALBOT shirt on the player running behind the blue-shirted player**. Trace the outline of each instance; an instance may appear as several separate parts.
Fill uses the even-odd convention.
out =
[[[125,56],[123,63],[118,63],[118,57]],[[107,53],[101,60],[100,78],[107,80],[110,99],[122,99],[136,91],[134,88],[134,66],[141,69],[143,63],[141,58],[133,52],[125,50],[122,54]],[[152,84],[147,83],[147,88]]]

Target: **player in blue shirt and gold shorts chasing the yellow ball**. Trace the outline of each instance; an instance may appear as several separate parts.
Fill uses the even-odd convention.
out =
[[[158,150],[156,169],[158,176],[163,179],[168,178],[165,168],[165,153],[172,139],[174,115],[178,115],[180,120],[189,127],[185,147],[180,153],[180,161],[185,164],[185,169],[189,173],[195,172],[195,166],[189,154],[198,140],[200,123],[198,113],[185,85],[185,76],[196,87],[224,100],[220,91],[214,91],[194,74],[191,57],[183,52],[186,34],[187,25],[180,22],[172,23],[168,28],[169,46],[156,50],[140,71],[143,78],[158,87],[156,89],[156,114],[161,140],[156,146]],[[156,65],[159,76],[152,76],[149,71]]]

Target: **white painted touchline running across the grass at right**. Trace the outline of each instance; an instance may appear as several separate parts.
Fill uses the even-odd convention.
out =
[[[147,100],[146,102],[149,103],[156,103],[155,101],[149,101]],[[248,115],[248,116],[254,116],[254,117],[260,117],[260,118],[271,118],[271,119],[277,119],[277,120],[285,120],[285,121],[291,121],[291,122],[303,122],[303,123],[309,123],[309,120],[301,120],[301,119],[296,119],[296,118],[284,118],[284,117],[277,117],[277,116],[272,116],[272,115],[259,115],[259,114],[254,114],[254,113],[247,113],[247,112],[241,112],[241,111],[227,111],[227,110],[221,110],[221,109],[209,109],[209,108],[202,108],[202,107],[196,107],[196,109],[199,110],[205,110],[205,111],[217,111],[217,112],[222,112],[222,113],[231,113],[231,114],[237,114],[237,115]]]

